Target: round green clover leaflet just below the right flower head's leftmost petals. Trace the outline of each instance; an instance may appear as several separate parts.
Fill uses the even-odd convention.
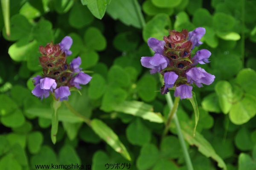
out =
[[[145,75],[137,82],[137,91],[143,101],[153,101],[157,96],[157,81],[151,75]]]

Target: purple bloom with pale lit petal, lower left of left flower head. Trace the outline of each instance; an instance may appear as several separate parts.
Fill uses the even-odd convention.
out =
[[[57,84],[54,79],[51,78],[41,78],[40,83],[38,83],[39,77],[36,76],[35,80],[35,88],[32,90],[32,94],[41,98],[47,98],[50,95],[50,92],[56,88]]]

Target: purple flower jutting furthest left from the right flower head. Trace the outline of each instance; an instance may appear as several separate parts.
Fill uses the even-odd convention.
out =
[[[153,57],[142,57],[140,62],[142,66],[151,69],[151,74],[154,74],[165,69],[169,64],[169,59],[163,55],[155,54]]]

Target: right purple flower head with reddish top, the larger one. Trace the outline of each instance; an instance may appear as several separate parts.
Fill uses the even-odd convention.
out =
[[[192,98],[191,84],[195,83],[198,87],[212,84],[215,76],[201,67],[195,67],[198,63],[209,63],[211,52],[201,49],[191,57],[192,49],[202,44],[200,40],[204,34],[205,29],[198,27],[192,32],[169,30],[169,35],[163,37],[164,41],[148,39],[148,46],[155,54],[153,57],[142,57],[140,61],[144,67],[151,69],[151,74],[159,72],[163,75],[164,85],[160,88],[162,94],[175,87],[175,96]]]

